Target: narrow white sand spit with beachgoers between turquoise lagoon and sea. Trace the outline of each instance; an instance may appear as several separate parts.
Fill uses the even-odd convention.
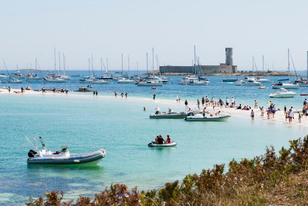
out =
[[[16,92],[20,92],[21,89],[11,89],[10,90],[10,94],[8,89],[0,89],[0,95],[62,95],[62,96],[82,96],[82,97],[92,97],[92,95],[85,95],[85,93],[83,92],[72,92],[69,91],[68,95],[66,95],[65,93],[61,94],[59,93],[53,93],[52,91],[46,91],[46,93],[42,93],[41,91],[33,91],[33,90],[25,90],[25,93],[14,93],[14,91]],[[83,94],[82,94],[83,93]],[[92,92],[86,92],[87,94],[92,94]],[[107,96],[107,95],[99,95],[98,98],[108,98],[108,99],[115,99],[114,96]],[[117,99],[120,99],[121,96],[118,95]],[[124,97],[125,98],[125,97]],[[155,101],[150,99],[150,98],[140,98],[140,97],[133,97],[133,96],[129,96],[128,99],[134,99],[137,101],[152,101],[153,104],[159,104],[159,105],[167,105],[168,107],[172,108],[174,111],[180,111],[184,109],[184,101],[179,103],[176,103],[174,100],[161,100],[161,99],[156,99]],[[286,100],[287,101],[287,100]],[[188,101],[189,102],[189,101]],[[241,104],[237,103],[237,105]],[[242,104],[244,105],[244,104]],[[196,109],[196,104],[189,104],[188,105],[192,110],[193,108]],[[252,106],[252,104],[250,105]],[[260,105],[258,105],[259,107]],[[262,105],[261,105],[262,106]],[[268,105],[264,105],[265,109]],[[161,107],[161,111],[165,111],[166,109],[162,109],[163,107]],[[148,108],[152,109],[152,108]],[[203,107],[201,106],[201,110],[203,109]],[[260,109],[254,109],[252,108],[254,111],[254,121],[270,121],[273,123],[277,123],[277,124],[282,124],[282,125],[289,125],[289,121],[285,118],[285,114],[283,110],[280,111],[276,111],[274,118],[270,118],[267,119],[267,114],[266,112],[264,113],[264,117],[261,117],[261,111]],[[287,107],[287,110],[289,110],[290,108]],[[293,108],[293,109],[301,109],[301,108]],[[218,107],[215,107],[215,110],[213,110],[213,107],[208,107],[206,109],[206,111],[208,111],[209,113],[212,113],[214,115],[215,112],[217,111],[221,111],[221,113],[230,113],[234,118],[241,118],[243,120],[247,120],[247,121],[252,121],[251,117],[250,117],[250,113],[251,110],[241,110],[241,109],[234,109],[234,108],[223,108],[223,109],[219,109]],[[154,109],[153,109],[153,113],[154,113]],[[290,125],[304,125],[304,126],[308,126],[308,118],[306,118],[305,116],[302,117],[302,122],[299,123],[298,122],[298,113],[294,113],[294,119],[292,119],[292,122]]]

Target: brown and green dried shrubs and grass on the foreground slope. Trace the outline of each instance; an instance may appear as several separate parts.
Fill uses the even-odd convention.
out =
[[[251,160],[232,160],[226,173],[224,164],[216,164],[200,175],[188,174],[181,184],[166,183],[159,190],[129,191],[124,184],[112,184],[95,198],[80,195],[76,201],[63,202],[64,192],[53,191],[46,192],[46,198],[30,198],[26,205],[307,205],[307,138],[289,141],[290,148],[282,148],[279,155],[271,146]]]

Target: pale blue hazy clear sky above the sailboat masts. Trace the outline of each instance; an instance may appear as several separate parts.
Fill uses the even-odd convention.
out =
[[[233,47],[238,70],[287,69],[290,49],[296,70],[307,67],[308,1],[1,1],[0,58],[9,70],[54,69],[65,54],[70,70],[88,69],[93,54],[109,70],[146,69],[152,48],[160,65],[188,66],[196,55],[201,65],[225,63]],[[156,69],[156,59],[154,58]],[[63,63],[61,63],[63,65]],[[61,65],[61,67],[62,67]],[[149,69],[151,65],[149,62]],[[63,69],[63,68],[62,68]]]

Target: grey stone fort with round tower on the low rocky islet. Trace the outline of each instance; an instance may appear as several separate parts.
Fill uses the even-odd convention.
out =
[[[220,65],[201,65],[203,73],[236,73],[237,66],[233,65],[233,48],[226,48],[226,63]],[[194,73],[193,66],[160,66],[160,73]]]

